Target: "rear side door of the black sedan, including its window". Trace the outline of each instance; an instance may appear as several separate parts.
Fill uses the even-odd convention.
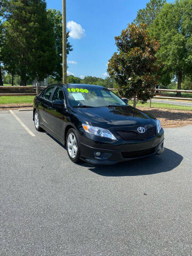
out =
[[[41,124],[43,124],[47,129],[49,129],[49,125],[47,124],[47,113],[52,106],[52,102],[50,101],[50,99],[54,89],[54,86],[48,87],[44,94],[41,96],[38,103],[38,111]]]

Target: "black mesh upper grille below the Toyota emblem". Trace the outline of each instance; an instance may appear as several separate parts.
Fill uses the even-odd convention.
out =
[[[153,138],[156,135],[156,127],[151,127],[146,130],[145,133],[139,133],[138,131],[116,131],[117,134],[124,140],[130,141],[142,141]]]

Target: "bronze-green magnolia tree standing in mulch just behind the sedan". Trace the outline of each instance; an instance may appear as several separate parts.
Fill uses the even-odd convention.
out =
[[[159,43],[150,39],[145,24],[139,26],[129,24],[120,36],[115,37],[118,52],[115,52],[108,63],[109,76],[118,84],[117,90],[121,97],[134,99],[142,103],[154,96],[157,84],[157,58],[155,54]]]

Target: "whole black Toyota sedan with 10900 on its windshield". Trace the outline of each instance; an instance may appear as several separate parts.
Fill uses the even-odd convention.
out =
[[[33,119],[74,163],[115,164],[164,151],[158,119],[97,85],[48,86],[34,99]]]

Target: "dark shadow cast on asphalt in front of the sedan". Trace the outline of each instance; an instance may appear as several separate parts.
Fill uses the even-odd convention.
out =
[[[169,172],[180,165],[183,157],[171,149],[165,148],[162,155],[135,159],[116,165],[91,166],[82,164],[98,175],[107,177],[150,175],[161,172]]]

